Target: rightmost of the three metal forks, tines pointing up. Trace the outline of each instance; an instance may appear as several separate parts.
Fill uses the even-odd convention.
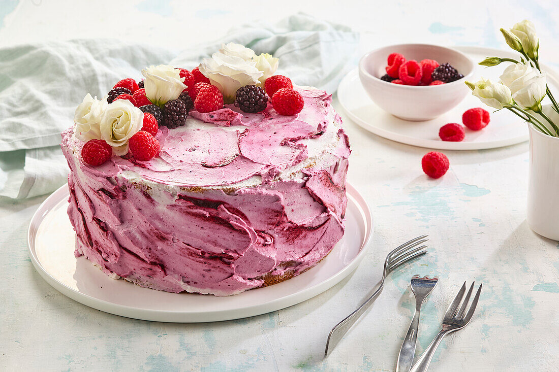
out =
[[[470,322],[473,312],[476,311],[477,301],[480,298],[481,286],[483,285],[480,284],[480,288],[477,289],[476,295],[473,297],[472,304],[470,305],[470,308],[466,313],[466,309],[468,308],[468,302],[470,302],[470,296],[472,295],[473,284],[475,283],[476,282],[472,283],[472,285],[470,286],[470,290],[468,290],[468,293],[466,294],[466,297],[463,298],[464,292],[466,292],[466,282],[464,282],[462,288],[460,288],[458,294],[456,295],[456,297],[454,297],[454,300],[448,307],[447,312],[444,314],[443,329],[440,330],[437,336],[435,336],[435,339],[431,342],[429,347],[427,347],[427,350],[425,350],[423,355],[421,355],[421,357],[419,358],[417,363],[415,363],[413,368],[411,368],[410,372],[427,371],[427,368],[429,367],[429,363],[431,363],[431,359],[435,354],[435,350],[437,350],[437,347],[439,346],[440,341],[443,339],[443,337],[448,335],[448,333],[461,330],[462,328],[466,327],[466,325]],[[458,309],[458,305],[461,303],[462,306],[460,306],[460,308]]]

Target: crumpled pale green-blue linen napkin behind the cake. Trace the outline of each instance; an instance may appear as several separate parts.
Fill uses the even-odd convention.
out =
[[[357,61],[358,34],[298,14],[277,25],[244,26],[222,40],[176,50],[117,40],[73,40],[0,49],[0,197],[23,199],[66,182],[60,132],[72,125],[86,93],[102,97],[123,77],[140,79],[148,65],[194,68],[237,42],[280,58],[277,73],[334,93]]]

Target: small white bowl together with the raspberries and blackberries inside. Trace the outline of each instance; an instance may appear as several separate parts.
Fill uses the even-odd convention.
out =
[[[409,121],[442,115],[470,92],[475,64],[458,50],[429,44],[381,47],[359,61],[359,79],[383,110]]]

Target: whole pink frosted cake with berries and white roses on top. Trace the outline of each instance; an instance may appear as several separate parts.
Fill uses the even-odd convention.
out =
[[[217,54],[259,68],[262,55],[249,59],[240,48]],[[271,68],[253,84],[228,87],[204,61],[177,70],[184,87],[167,102],[149,69],[145,90],[131,79],[113,88],[135,98],[115,97],[122,89],[104,101],[86,96],[61,145],[77,257],[142,287],[231,295],[290,279],[328,255],[344,233],[348,139],[328,94],[271,77],[277,59],[263,58]]]

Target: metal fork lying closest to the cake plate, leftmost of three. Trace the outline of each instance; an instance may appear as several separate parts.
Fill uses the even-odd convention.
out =
[[[326,350],[324,351],[324,356],[327,356],[330,351],[334,350],[334,347],[336,347],[340,340],[342,340],[342,337],[345,335],[345,333],[347,333],[347,331],[349,331],[349,328],[353,326],[353,323],[357,321],[357,319],[367,310],[367,308],[382,292],[382,287],[384,286],[386,276],[394,271],[396,268],[398,268],[400,265],[403,265],[406,262],[427,253],[427,250],[425,250],[425,248],[427,248],[427,245],[419,246],[420,244],[428,240],[426,238],[427,235],[418,236],[415,239],[405,242],[386,256],[381,284],[378,286],[377,290],[375,290],[375,293],[373,293],[371,297],[367,299],[367,301],[363,302],[361,306],[359,306],[353,313],[349,314],[345,319],[343,319],[343,321],[339,322],[334,328],[332,328],[332,330],[330,331],[330,335],[328,335],[328,340],[326,341]]]

